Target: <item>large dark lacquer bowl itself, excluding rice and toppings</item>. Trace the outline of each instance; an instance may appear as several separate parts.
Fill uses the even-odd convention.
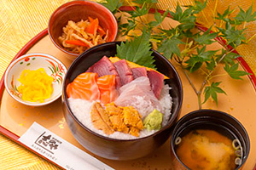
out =
[[[104,55],[110,57],[116,54],[116,45],[120,42],[107,42],[90,48],[75,59],[67,71],[64,79],[62,103],[64,116],[67,124],[71,129],[75,139],[96,156],[102,156],[111,160],[131,160],[148,155],[156,150],[160,145],[164,144],[171,136],[172,125],[177,122],[182,103],[183,103],[183,87],[177,71],[172,64],[162,55],[153,50],[155,65],[158,71],[170,77],[166,81],[171,87],[172,95],[172,116],[165,127],[160,131],[141,139],[110,139],[98,133],[91,131],[85,127],[78,118],[74,116],[73,111],[67,100],[67,84],[82,72],[86,71],[91,65],[102,59]]]

